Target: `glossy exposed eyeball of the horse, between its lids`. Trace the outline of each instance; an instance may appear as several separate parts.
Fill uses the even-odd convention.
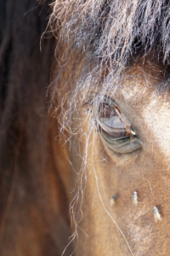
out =
[[[109,137],[119,138],[130,135],[130,124],[123,123],[121,112],[119,113],[118,108],[114,108],[114,106],[101,103],[98,122],[100,131],[105,132]]]

